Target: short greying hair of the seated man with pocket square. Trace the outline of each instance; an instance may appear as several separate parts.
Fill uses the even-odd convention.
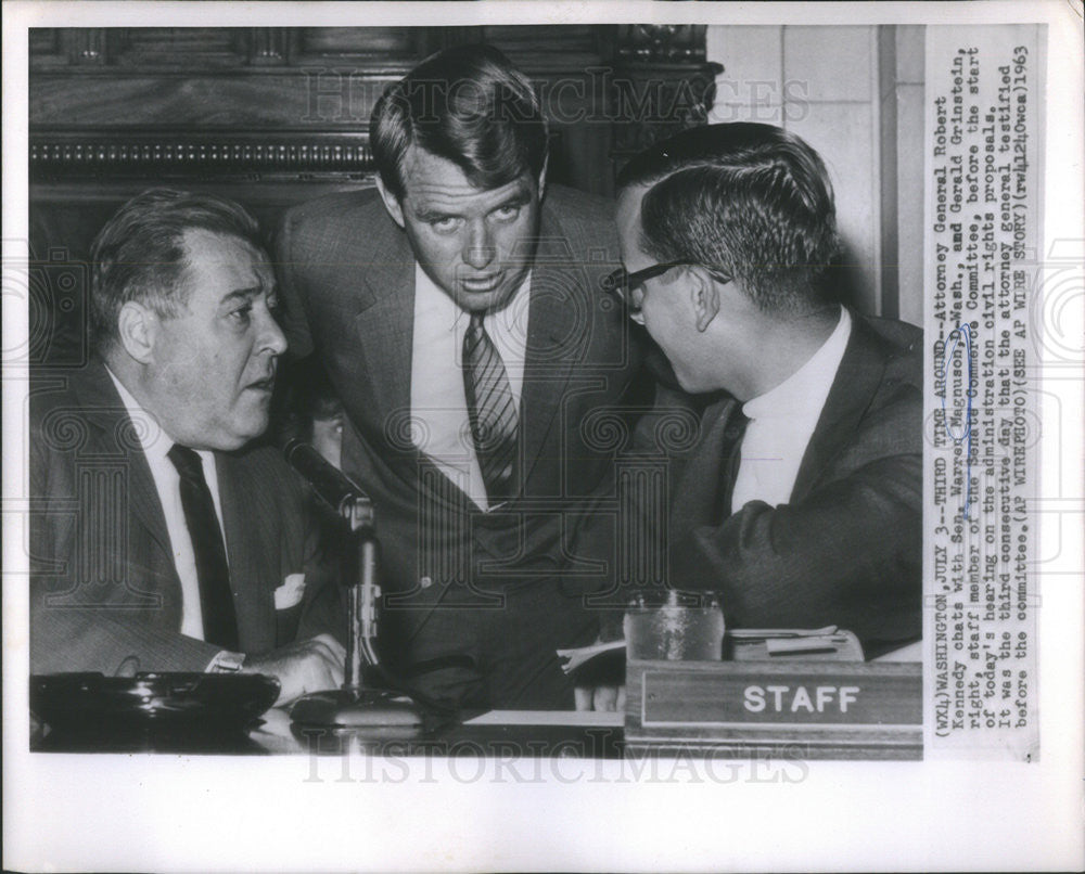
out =
[[[120,207],[91,246],[91,340],[104,351],[117,338],[117,317],[129,300],[162,318],[186,305],[184,232],[233,236],[263,252],[259,227],[240,204],[213,194],[151,189]]]

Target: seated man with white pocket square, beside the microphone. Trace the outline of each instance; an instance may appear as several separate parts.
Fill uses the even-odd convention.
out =
[[[144,192],[92,262],[95,356],[31,395],[31,670],[260,672],[280,702],[339,685],[304,492],[250,446],[286,348],[255,221]]]

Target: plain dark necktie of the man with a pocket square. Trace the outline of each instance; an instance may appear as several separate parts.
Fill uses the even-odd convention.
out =
[[[238,617],[230,592],[230,568],[226,563],[222,531],[215,502],[204,478],[203,461],[187,446],[174,444],[169,460],[181,478],[181,506],[192,538],[200,580],[200,610],[204,640],[226,650],[238,648]]]

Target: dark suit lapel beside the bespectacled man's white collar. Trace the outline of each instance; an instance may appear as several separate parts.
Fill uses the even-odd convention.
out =
[[[867,322],[852,313],[852,335],[837,377],[832,381],[817,427],[803,453],[803,461],[791,490],[791,500],[802,500],[817,483],[832,458],[848,442],[855,427],[870,406],[885,371],[885,355]]]

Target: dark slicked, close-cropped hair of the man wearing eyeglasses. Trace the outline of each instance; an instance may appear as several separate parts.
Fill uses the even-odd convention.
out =
[[[650,185],[640,246],[663,262],[738,280],[766,311],[824,305],[840,248],[832,183],[817,152],[771,125],[709,125],[655,143],[618,175]]]

